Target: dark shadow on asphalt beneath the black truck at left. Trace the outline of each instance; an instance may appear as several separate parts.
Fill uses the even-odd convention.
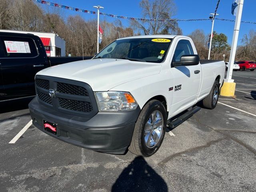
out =
[[[34,97],[0,102],[0,114],[28,109],[29,102]]]

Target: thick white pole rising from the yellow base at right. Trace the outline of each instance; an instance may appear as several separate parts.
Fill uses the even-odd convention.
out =
[[[230,58],[229,58],[229,63],[228,63],[228,73],[227,73],[226,79],[224,79],[224,82],[234,82],[234,79],[232,79],[232,72],[233,72],[233,65],[234,65],[235,56],[236,56],[236,47],[237,47],[237,42],[238,42],[239,30],[240,30],[243,4],[244,4],[244,0],[238,1],[236,23],[235,23]]]

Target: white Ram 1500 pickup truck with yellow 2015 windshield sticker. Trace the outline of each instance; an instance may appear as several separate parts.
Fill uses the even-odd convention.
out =
[[[200,109],[197,102],[215,108],[224,72],[223,61],[200,61],[186,36],[121,38],[91,60],[38,72],[30,114],[34,126],[62,141],[147,157],[160,148],[167,125]]]

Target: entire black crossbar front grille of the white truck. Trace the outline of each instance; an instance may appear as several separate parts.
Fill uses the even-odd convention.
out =
[[[49,95],[50,89],[55,91],[54,98]],[[42,105],[63,114],[92,118],[98,113],[94,92],[84,82],[36,75],[36,93]]]

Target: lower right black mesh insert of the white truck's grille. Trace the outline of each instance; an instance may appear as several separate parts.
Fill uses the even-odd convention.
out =
[[[80,111],[80,112],[91,112],[92,111],[92,103],[85,101],[77,101],[59,98],[60,107],[64,109]]]

